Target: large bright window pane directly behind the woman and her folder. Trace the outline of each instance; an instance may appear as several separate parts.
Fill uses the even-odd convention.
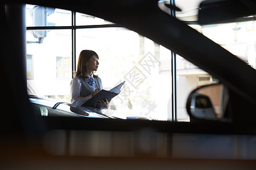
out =
[[[77,57],[83,49],[98,53],[96,74],[106,90],[126,81],[105,114],[170,119],[170,50],[125,28],[77,29],[76,35]]]

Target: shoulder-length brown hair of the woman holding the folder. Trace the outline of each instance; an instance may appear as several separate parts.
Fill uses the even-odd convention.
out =
[[[87,78],[86,75],[86,62],[89,61],[92,56],[96,56],[98,58],[98,54],[94,52],[93,50],[82,50],[80,55],[79,55],[79,61],[77,63],[77,71],[75,73],[75,76],[77,75],[82,75],[84,78]],[[97,75],[94,75],[93,73],[93,78],[97,78]]]

